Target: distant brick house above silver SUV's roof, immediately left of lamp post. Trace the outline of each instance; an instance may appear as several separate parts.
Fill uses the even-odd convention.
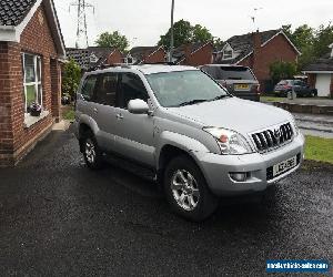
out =
[[[167,52],[163,47],[135,47],[125,57],[128,64],[165,62]]]

